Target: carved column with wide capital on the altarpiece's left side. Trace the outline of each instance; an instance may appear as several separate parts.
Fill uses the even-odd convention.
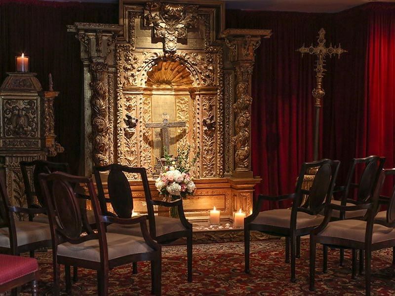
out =
[[[105,166],[113,161],[110,154],[112,126],[109,120],[114,94],[115,77],[114,43],[121,26],[111,24],[75,23],[68,32],[75,33],[81,43],[81,60],[84,64],[84,174],[91,173],[92,164]],[[114,81],[113,81],[114,82]]]

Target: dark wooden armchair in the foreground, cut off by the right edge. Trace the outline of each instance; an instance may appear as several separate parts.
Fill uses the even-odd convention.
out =
[[[376,219],[378,197],[384,179],[388,175],[395,175],[395,169],[382,170],[376,183],[374,194],[369,203],[353,206],[335,204],[326,205],[324,221],[314,229],[310,235],[310,290],[315,289],[316,272],[316,244],[331,248],[364,250],[365,255],[365,289],[370,295],[370,262],[371,252],[395,246],[395,187],[393,188],[391,203],[386,213],[386,219]],[[366,210],[362,219],[346,219],[332,221],[332,211],[360,211]],[[356,252],[353,252],[353,273],[356,272]]]

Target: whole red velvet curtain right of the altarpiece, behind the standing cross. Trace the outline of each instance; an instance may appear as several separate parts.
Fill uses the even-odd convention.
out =
[[[387,157],[386,167],[394,166],[394,7],[369,3],[336,14],[227,11],[227,27],[274,32],[257,50],[252,77],[252,165],[263,179],[256,194],[293,192],[301,163],[313,158],[315,57],[301,59],[295,50],[316,44],[321,27],[327,46],[340,42],[348,52],[327,58],[319,157],[341,160],[339,185],[353,157],[379,154]]]

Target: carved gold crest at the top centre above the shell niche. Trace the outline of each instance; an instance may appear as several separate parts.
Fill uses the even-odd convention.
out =
[[[197,26],[197,5],[147,2],[146,26],[154,27],[155,37],[163,37],[165,52],[177,51],[177,38],[186,38],[187,29]]]

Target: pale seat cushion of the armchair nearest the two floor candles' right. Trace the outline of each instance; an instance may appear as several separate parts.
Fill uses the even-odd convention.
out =
[[[323,219],[324,216],[322,215],[310,215],[298,212],[296,216],[296,229],[317,226],[321,224]],[[290,228],[291,209],[277,209],[260,212],[251,223]]]

